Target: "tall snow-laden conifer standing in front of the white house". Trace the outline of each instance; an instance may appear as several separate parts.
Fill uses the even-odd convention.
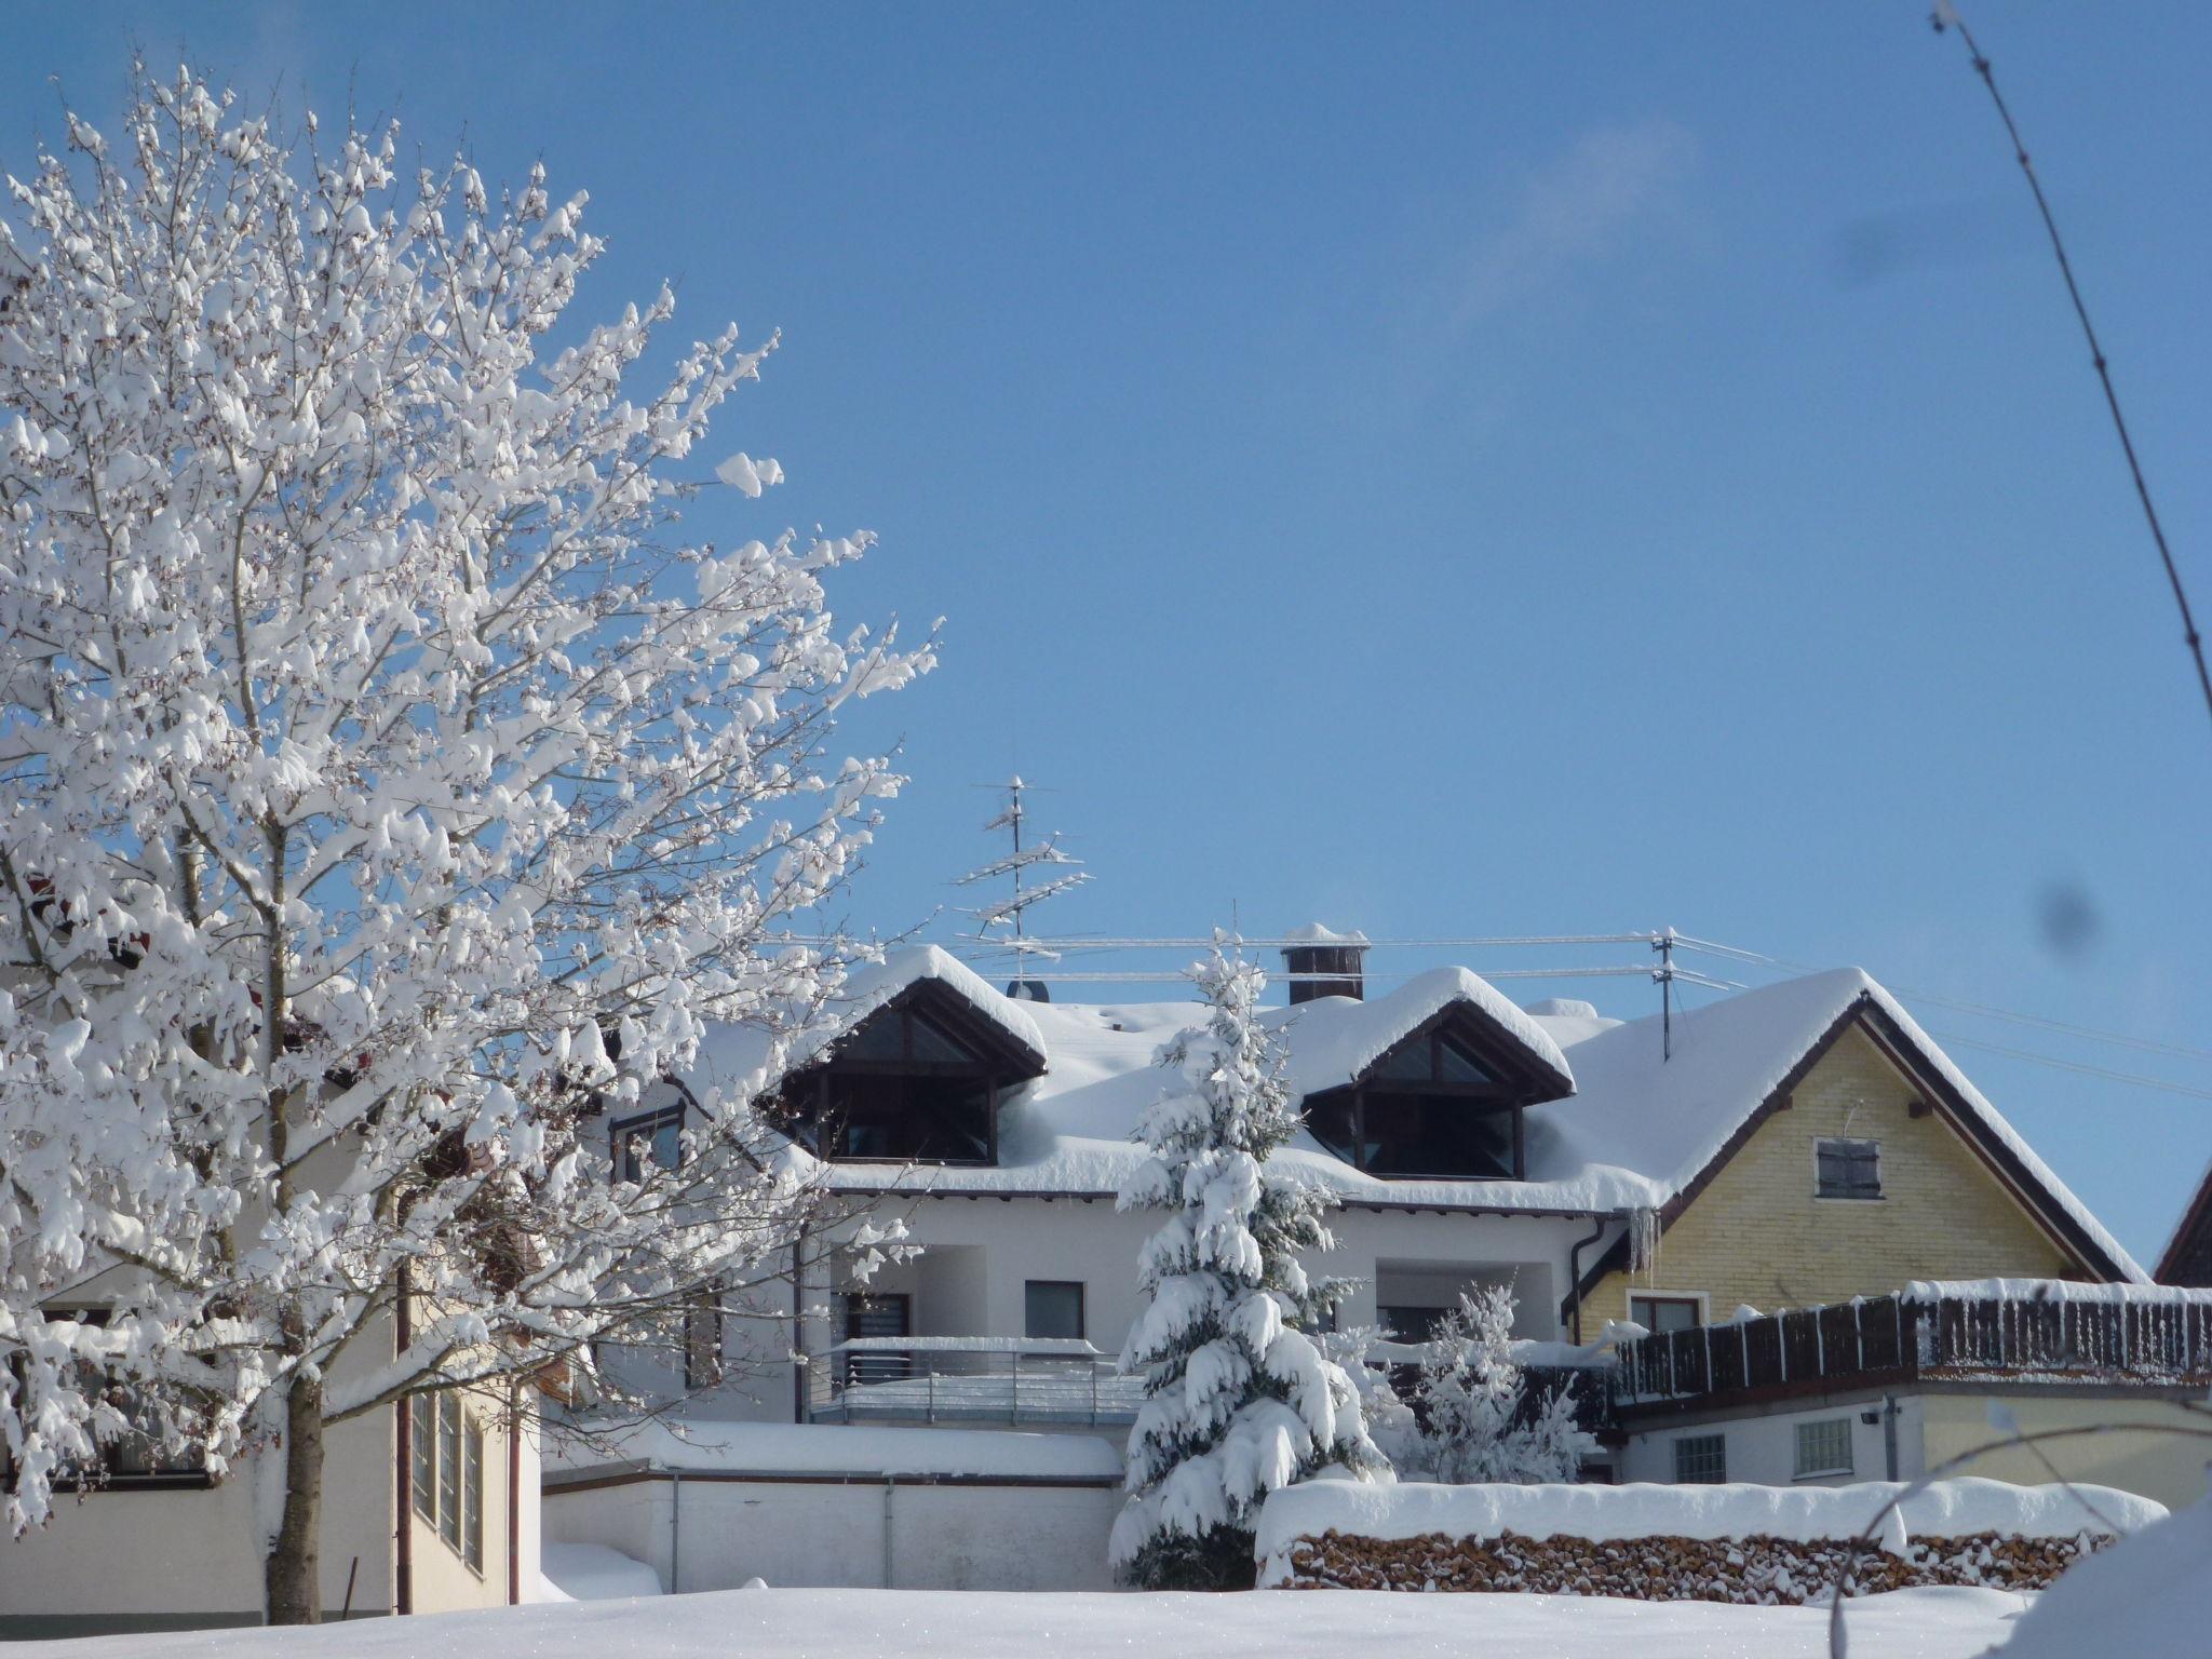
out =
[[[1181,1086],[1139,1135],[1152,1157],[1121,1210],[1168,1210],[1137,1285],[1150,1298],[1121,1349],[1144,1378],[1128,1438],[1128,1502],[1110,1555],[1135,1584],[1252,1584],[1252,1513],[1274,1489],[1325,1467],[1380,1469],[1358,1391],[1305,1325],[1345,1296],[1307,1279],[1301,1252],[1327,1250],[1327,1199],[1267,1170],[1298,1128],[1279,1042],[1261,1024],[1261,971],[1219,949],[1192,967],[1210,1018],[1161,1051]]]

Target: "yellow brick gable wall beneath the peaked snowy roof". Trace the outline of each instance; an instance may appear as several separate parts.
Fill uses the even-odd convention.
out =
[[[2079,1276],[2051,1237],[1858,1026],[1792,1106],[1761,1124],[1659,1241],[1650,1270],[1608,1274],[1584,1329],[1628,1316],[1632,1292],[1703,1294],[1712,1318],[1878,1296],[1913,1279]],[[1882,1144],[1880,1199],[1816,1199],[1814,1141]]]

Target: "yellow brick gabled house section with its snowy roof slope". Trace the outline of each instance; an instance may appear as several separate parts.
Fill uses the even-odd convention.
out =
[[[1579,1274],[1564,1312],[1582,1325],[1683,1329],[1916,1279],[2146,1276],[1865,973],[1752,991],[1679,1033],[1635,1068],[1646,1121],[1630,1133],[1655,1141],[1637,1164],[1668,1179]],[[1610,1093],[1608,1037],[1571,1048],[1584,1095]]]

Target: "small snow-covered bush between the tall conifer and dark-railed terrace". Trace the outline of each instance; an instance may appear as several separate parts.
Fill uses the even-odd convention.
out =
[[[1553,1389],[1526,1409],[1526,1398],[1528,1380],[1513,1358],[1513,1292],[1460,1292],[1422,1347],[1418,1433],[1396,1458],[1400,1473],[1447,1484],[1573,1480],[1584,1440],[1573,1400]]]

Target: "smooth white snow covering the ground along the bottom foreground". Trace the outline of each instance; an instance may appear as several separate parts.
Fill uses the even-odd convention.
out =
[[[1847,1610],[1851,1659],[1973,1659],[2026,1597],[1898,1590]],[[2104,1648],[2112,1652],[2110,1648]],[[984,1595],[719,1590],[644,1601],[361,1619],[319,1630],[204,1630],[29,1641],[35,1659],[1825,1659],[1816,1608],[1608,1601],[1573,1595]],[[2097,1652],[2097,1648],[2090,1648]],[[2130,1652],[2128,1659],[2166,1659]]]

